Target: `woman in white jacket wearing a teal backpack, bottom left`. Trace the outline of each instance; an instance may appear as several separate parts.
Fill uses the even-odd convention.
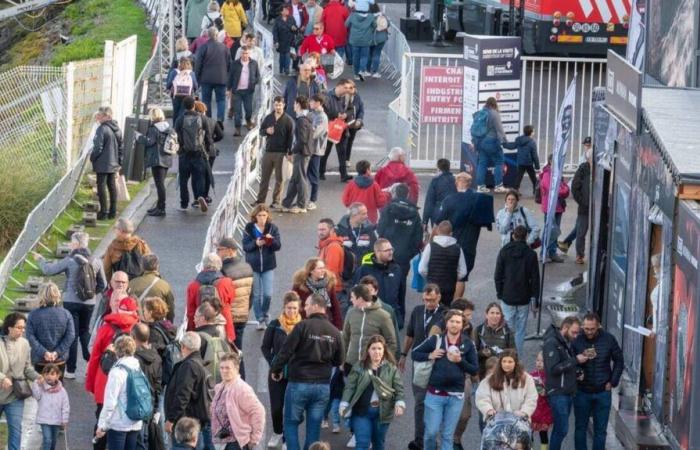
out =
[[[124,367],[141,370],[136,353],[136,342],[131,336],[120,336],[114,342],[117,362],[112,366],[105,386],[104,404],[97,420],[95,436],[101,438],[107,434],[109,450],[136,450],[136,440],[143,422],[131,420],[126,415],[126,379]]]

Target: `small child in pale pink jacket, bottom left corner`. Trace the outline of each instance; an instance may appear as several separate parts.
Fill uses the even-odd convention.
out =
[[[58,430],[68,425],[70,404],[68,393],[63,388],[61,369],[56,364],[47,364],[42,372],[44,380],[32,384],[32,394],[39,403],[36,413],[36,423],[41,425],[43,436],[42,450],[55,450],[58,440]]]

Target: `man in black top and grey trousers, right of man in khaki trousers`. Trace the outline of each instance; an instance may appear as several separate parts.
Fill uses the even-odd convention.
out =
[[[304,96],[294,100],[294,112],[296,121],[294,122],[294,147],[287,152],[287,159],[292,163],[292,178],[287,185],[287,195],[282,200],[282,211],[292,214],[306,212],[306,200],[308,193],[309,177],[306,169],[309,166],[311,157],[311,138],[313,134],[313,124],[309,118],[309,100]],[[296,200],[296,205],[294,201]]]

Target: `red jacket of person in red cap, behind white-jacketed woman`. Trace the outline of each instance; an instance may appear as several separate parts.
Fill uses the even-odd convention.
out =
[[[85,390],[95,397],[95,403],[104,402],[107,374],[100,367],[100,359],[105,349],[112,343],[114,328],[119,327],[124,333],[130,333],[131,328],[139,321],[138,316],[124,313],[111,313],[104,317],[104,323],[97,329],[97,336],[92,345],[87,374],[85,375]]]

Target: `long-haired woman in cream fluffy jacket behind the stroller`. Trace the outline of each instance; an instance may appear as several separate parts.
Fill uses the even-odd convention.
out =
[[[515,350],[504,350],[493,374],[479,383],[476,407],[486,419],[508,411],[530,421],[537,407],[537,388],[535,380],[520,365]]]

